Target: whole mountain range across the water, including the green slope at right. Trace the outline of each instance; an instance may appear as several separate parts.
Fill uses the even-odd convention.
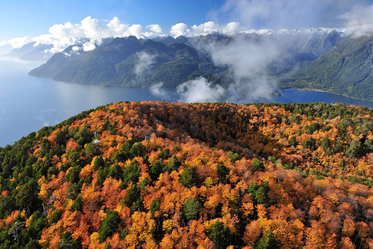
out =
[[[343,29],[260,30],[237,34],[212,32],[197,37],[137,39],[107,38],[84,52],[73,45],[56,53],[30,75],[103,86],[148,87],[163,82],[174,87],[205,77],[223,87],[233,81],[231,68],[211,59],[211,44],[235,40],[283,44],[280,55],[266,67],[280,87],[307,88],[373,100],[373,35],[346,36]],[[16,54],[16,52],[12,52]]]

